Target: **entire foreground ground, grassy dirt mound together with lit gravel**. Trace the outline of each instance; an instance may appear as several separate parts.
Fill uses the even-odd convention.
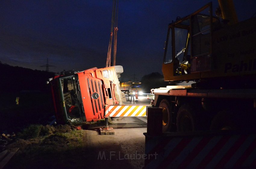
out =
[[[32,125],[9,145],[19,150],[4,169],[142,168],[146,129],[114,130],[115,135],[98,135],[93,128]]]

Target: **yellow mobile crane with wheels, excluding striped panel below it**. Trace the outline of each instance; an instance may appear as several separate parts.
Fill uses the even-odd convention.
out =
[[[232,1],[219,4],[222,20],[209,3],[168,26],[164,80],[194,83],[154,89],[163,131],[254,126],[256,17],[238,22]]]

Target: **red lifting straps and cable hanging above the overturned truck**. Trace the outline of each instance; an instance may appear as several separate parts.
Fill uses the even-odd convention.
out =
[[[106,67],[111,66],[111,48],[112,39],[114,38],[114,51],[113,51],[113,66],[116,66],[116,53],[117,53],[117,15],[118,15],[118,0],[113,0],[112,18],[111,18],[111,34],[108,44],[108,57]]]

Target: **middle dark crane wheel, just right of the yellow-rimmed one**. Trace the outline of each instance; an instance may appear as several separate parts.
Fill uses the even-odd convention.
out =
[[[182,105],[178,111],[176,120],[178,132],[195,131],[195,117],[191,106]]]

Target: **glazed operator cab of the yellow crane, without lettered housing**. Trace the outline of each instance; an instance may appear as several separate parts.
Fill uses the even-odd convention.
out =
[[[197,72],[211,70],[211,30],[219,23],[209,3],[169,24],[162,69],[165,80],[197,79]]]

